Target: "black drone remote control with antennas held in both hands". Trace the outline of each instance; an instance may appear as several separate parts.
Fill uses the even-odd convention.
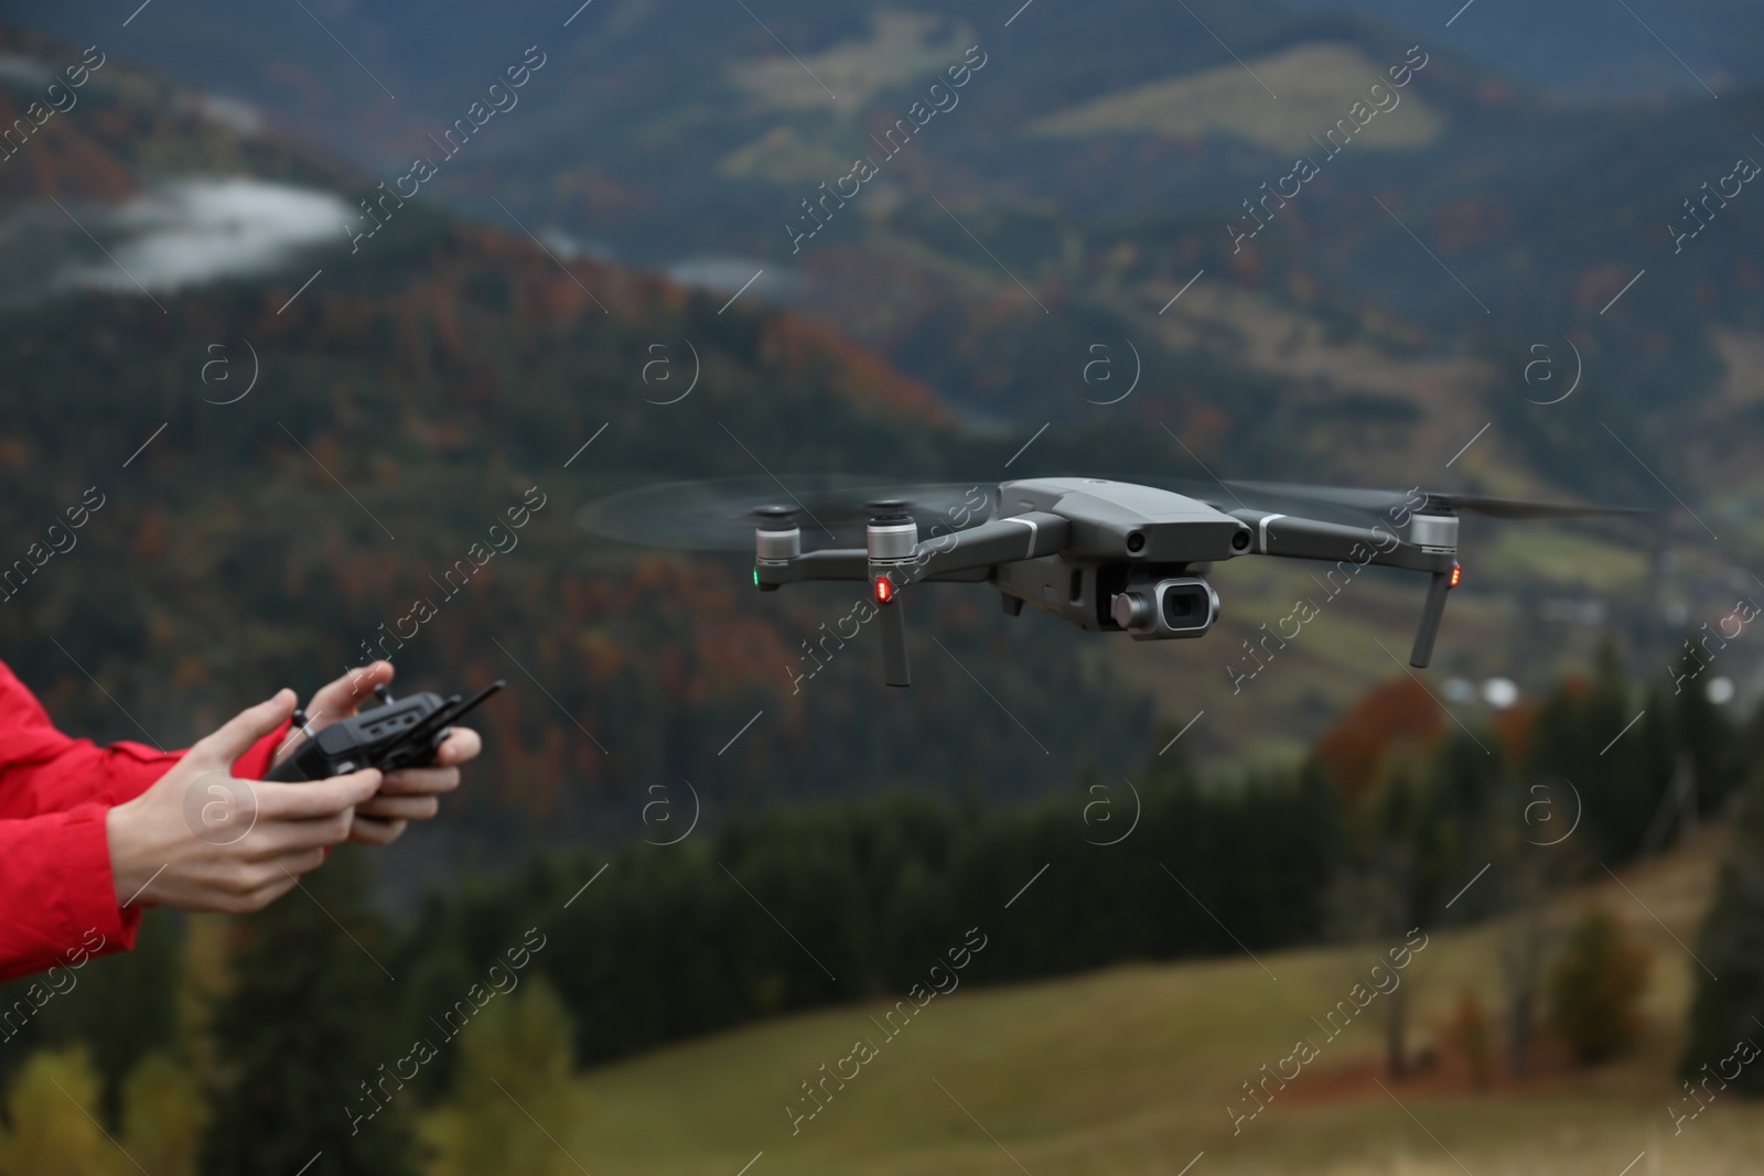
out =
[[[427,691],[393,698],[390,689],[377,686],[374,688],[377,707],[319,732],[307,725],[305,711],[295,711],[295,726],[305,732],[307,741],[295,755],[270,769],[265,779],[302,783],[348,776],[363,767],[377,767],[381,772],[429,767],[436,762],[436,751],[453,723],[503,686],[506,682],[496,679],[464,702],[459,695],[443,698]]]

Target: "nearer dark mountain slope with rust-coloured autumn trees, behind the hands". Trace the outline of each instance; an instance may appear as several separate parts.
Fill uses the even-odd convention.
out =
[[[69,53],[16,33],[5,49]],[[0,631],[67,728],[176,746],[365,652],[413,688],[510,679],[478,719],[480,786],[393,875],[640,834],[644,790],[683,795],[683,778],[706,820],[834,788],[1021,795],[1148,739],[1140,695],[1062,703],[1108,681],[1078,665],[1076,633],[1009,629],[949,592],[916,621],[917,689],[886,691],[868,649],[794,684],[856,587],[762,598],[746,559],[575,525],[582,502],[669,478],[998,462],[884,361],[790,312],[561,264],[420,201],[386,205],[355,250],[307,240],[312,208],[376,189],[116,60],[78,93],[79,118],[5,164],[0,205],[7,247],[39,250],[0,314],[18,557]],[[646,365],[662,344],[684,384],[688,342],[702,379],[665,404]],[[83,527],[51,529],[81,502]],[[975,688],[963,666],[986,659],[1014,668]]]

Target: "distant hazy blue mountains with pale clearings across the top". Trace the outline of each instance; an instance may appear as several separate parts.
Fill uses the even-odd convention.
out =
[[[975,425],[1166,421],[1221,473],[1413,483],[1498,420],[1473,478],[1649,502],[1642,465],[1723,488],[1745,465],[1700,423],[1748,420],[1722,390],[1759,342],[1759,227],[1743,199],[1722,245],[1679,256],[1665,227],[1755,148],[1743,5],[1637,9],[1693,67],[1720,49],[1718,102],[1656,74],[1588,100],[1637,55],[1678,69],[1619,9],[1004,7],[189,4],[115,37],[376,183],[427,160],[423,196],[559,256],[794,307]],[[101,39],[113,18],[32,19]],[[1584,397],[1524,404],[1547,398],[1521,386],[1536,346],[1581,356],[1641,464]],[[1108,404],[1125,384],[1094,383],[1127,370]]]

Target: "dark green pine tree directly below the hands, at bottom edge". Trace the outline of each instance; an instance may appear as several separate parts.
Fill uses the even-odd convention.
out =
[[[367,904],[369,875],[349,846],[302,885],[242,920],[235,986],[215,1012],[222,1079],[203,1141],[205,1176],[406,1176],[413,1135],[399,1104],[372,1107],[363,1084],[406,1049],[393,1035],[400,989],[390,943]],[[407,1046],[407,1042],[402,1042]]]

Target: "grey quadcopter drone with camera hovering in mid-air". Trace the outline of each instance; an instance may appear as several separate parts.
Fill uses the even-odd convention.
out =
[[[774,497],[776,488],[783,483],[649,487],[591,502],[579,522],[607,538],[700,550],[734,550],[751,527],[753,584],[762,592],[810,580],[868,585],[882,642],[882,681],[910,686],[905,599],[919,584],[986,584],[1013,617],[1028,605],[1092,633],[1182,640],[1212,629],[1219,594],[1207,575],[1242,555],[1332,562],[1346,575],[1349,564],[1353,571],[1381,566],[1424,573],[1427,596],[1409,665],[1425,668],[1446,594],[1462,578],[1461,513],[1639,513],[1420,488],[1404,494],[1263,481],[1205,487],[1023,478],[967,487],[963,494],[960,483],[878,492],[854,480],[797,480],[796,492],[785,490],[789,504],[762,497]],[[958,494],[961,504],[953,504]],[[859,520],[863,547],[804,550],[804,524],[838,541]]]

